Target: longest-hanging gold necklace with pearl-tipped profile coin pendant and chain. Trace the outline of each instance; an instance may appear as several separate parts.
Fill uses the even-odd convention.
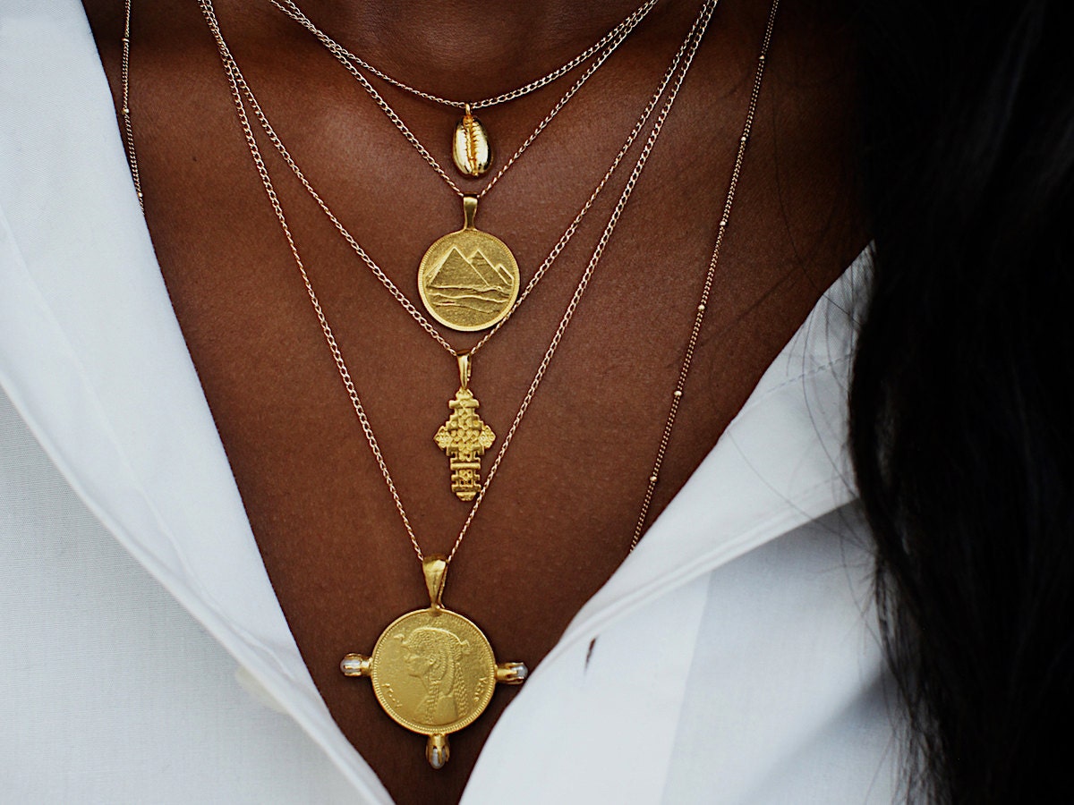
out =
[[[365,414],[358,389],[354,385],[339,346],[314,291],[313,283],[299,254],[294,238],[291,235],[287,218],[284,215],[279,197],[276,195],[268,171],[261,157],[257,140],[253,136],[253,129],[249,122],[243,102],[244,91],[241,88],[241,73],[220,33],[219,25],[213,11],[212,0],[199,0],[199,2],[216,39],[224,72],[231,85],[235,112],[238,115],[240,125],[246,137],[247,146],[250,149],[250,156],[261,176],[261,181],[264,185],[265,193],[273,206],[273,210],[276,213],[276,218],[288,241],[295,266],[302,276],[310,305],[321,325],[324,340],[335,361],[336,369],[343,380],[344,387],[350,396],[351,405],[365,434],[369,450],[377,460],[381,475],[400,513],[403,526],[410,538],[410,544],[422,562],[422,570],[425,575],[425,585],[430,598],[429,608],[416,610],[396,618],[381,633],[371,656],[348,654],[340,661],[340,670],[347,676],[369,676],[373,679],[374,693],[384,712],[406,729],[427,736],[425,757],[434,769],[439,769],[449,758],[448,735],[468,726],[481,714],[492,698],[492,687],[494,684],[497,682],[519,684],[525,679],[527,673],[526,667],[523,663],[497,664],[488,639],[481,630],[464,616],[444,608],[441,596],[448,567],[462,545],[470,524],[474,522],[481,501],[484,499],[489,486],[496,475],[496,470],[511,444],[514,433],[540,385],[541,379],[552,361],[552,356],[555,354],[563,334],[570,324],[570,320],[582,295],[585,293],[590,278],[600,261],[608,240],[614,232],[615,224],[619,222],[620,216],[637,185],[638,177],[645,166],[649,155],[652,152],[659,137],[664,121],[671,111],[678,97],[679,88],[682,86],[682,82],[693,63],[697,47],[705,35],[708,21],[715,9],[715,0],[707,0],[699,17],[699,27],[697,27],[696,31],[692,29],[695,35],[688,42],[684,63],[678,72],[671,89],[668,91],[664,106],[656,121],[653,123],[652,131],[645,141],[641,153],[638,156],[630,177],[627,179],[626,186],[623,188],[619,202],[612,210],[600,239],[597,241],[585,272],[582,274],[582,278],[575,289],[575,294],[560,321],[555,335],[546,350],[545,358],[534,375],[529,390],[514,416],[514,422],[504,438],[504,443],[500,445],[499,452],[489,470],[489,475],[476,494],[469,514],[463,523],[459,536],[455,538],[451,552],[447,556],[425,556],[421,550],[421,545],[418,543],[418,539],[410,526],[409,517],[403,508],[403,502],[388,470],[388,465],[381,455],[376,436],[373,433],[373,427]],[[468,380],[468,358],[460,360],[460,375],[465,386]],[[418,682],[415,683],[413,679]]]

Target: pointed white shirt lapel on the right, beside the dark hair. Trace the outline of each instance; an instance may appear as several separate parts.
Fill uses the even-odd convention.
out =
[[[719,443],[546,661],[856,497],[845,452],[846,394],[853,311],[869,265],[866,250],[828,289]]]

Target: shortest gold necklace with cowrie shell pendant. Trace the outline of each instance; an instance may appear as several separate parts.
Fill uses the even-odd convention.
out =
[[[314,25],[314,23],[305,15],[305,13],[303,13],[302,9],[299,8],[294,0],[270,0],[270,2],[320,40],[320,42],[329,50],[331,50],[336,58],[350,62],[353,68],[364,70],[365,72],[377,76],[381,80],[410,92],[419,98],[423,98],[426,101],[432,101],[433,103],[441,106],[462,109],[463,117],[455,125],[454,135],[452,136],[451,156],[452,161],[455,163],[455,167],[459,169],[459,172],[464,176],[473,178],[482,176],[485,172],[488,172],[492,165],[493,159],[492,146],[489,142],[488,131],[481,121],[474,117],[475,112],[483,108],[491,108],[492,106],[513,101],[517,98],[523,98],[531,92],[546,87],[557,78],[561,78],[571,72],[575,68],[589,60],[603,48],[606,48],[605,52],[601,53],[596,59],[595,67],[586,71],[586,75],[583,76],[583,80],[581,82],[584,83],[584,78],[587,78],[597,67],[604,63],[605,59],[607,59],[608,56],[610,56],[611,53],[619,47],[619,45],[621,45],[630,32],[641,23],[641,20],[648,16],[649,12],[652,11],[654,5],[656,5],[657,0],[645,0],[644,3],[638,6],[632,14],[623,19],[623,21],[601,36],[598,42],[591,45],[570,61],[562,64],[540,78],[536,78],[528,84],[517,87],[516,89],[507,92],[502,92],[498,96],[484,98],[480,101],[468,102],[452,101],[441,98],[440,96],[433,94],[432,92],[425,92],[411,87],[409,84],[405,84],[393,78],[381,70],[378,70],[369,62],[355,56]],[[379,98],[379,96],[374,97]],[[387,109],[386,114],[388,114]],[[391,115],[389,114],[389,116]]]

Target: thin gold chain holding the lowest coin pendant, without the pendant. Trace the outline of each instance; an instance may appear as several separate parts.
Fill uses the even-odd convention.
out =
[[[656,145],[656,141],[659,137],[661,131],[663,130],[664,122],[667,119],[668,114],[671,112],[671,107],[674,104],[676,98],[678,97],[679,89],[682,86],[683,80],[690,71],[691,64],[694,60],[694,55],[697,53],[697,48],[701,43],[701,39],[705,35],[705,30],[708,27],[709,19],[712,16],[712,12],[715,10],[716,2],[719,0],[706,0],[702,6],[701,24],[692,36],[690,41],[690,46],[687,47],[685,59],[682,63],[681,70],[676,76],[674,82],[671,84],[668,90],[668,97],[664,102],[664,106],[661,108],[655,122],[653,123],[652,130],[650,131],[649,137],[645,141],[641,152],[635,162],[634,170],[630,173],[626,185],[620,194],[619,202],[615,204],[612,210],[611,217],[605,226],[604,233],[600,239],[597,241],[596,247],[593,250],[593,254],[590,258],[590,262],[585,267],[585,272],[582,274],[582,278],[575,289],[574,296],[570,303],[567,305],[567,309],[564,311],[563,318],[560,320],[560,325],[556,327],[555,334],[552,336],[552,340],[545,352],[545,357],[541,360],[540,365],[534,375],[533,381],[529,384],[525,396],[523,397],[522,404],[519,406],[519,411],[514,415],[514,421],[511,423],[511,427],[504,437],[503,443],[500,444],[499,452],[496,454],[496,458],[492,466],[489,468],[489,473],[485,477],[484,483],[481,484],[481,488],[474,499],[474,503],[470,507],[469,513],[466,516],[462,528],[459,531],[459,536],[455,538],[454,544],[451,547],[450,553],[447,556],[447,562],[450,565],[455,554],[459,552],[460,546],[463,543],[467,532],[469,531],[470,524],[474,522],[474,517],[477,515],[478,509],[481,506],[481,501],[484,500],[484,496],[489,491],[489,486],[492,480],[496,477],[496,471],[499,468],[500,463],[504,459],[504,455],[507,453],[507,449],[510,447],[514,434],[525,416],[526,411],[529,408],[529,404],[533,400],[534,395],[537,393],[537,389],[540,385],[541,380],[548,370],[549,365],[552,362],[552,357],[555,354],[556,348],[560,346],[560,341],[563,338],[563,334],[566,332],[567,326],[570,324],[570,320],[578,308],[578,304],[581,302],[582,295],[585,293],[589,287],[590,278],[593,276],[593,272],[596,269],[597,264],[604,254],[605,247],[607,246],[612,233],[615,230],[615,224],[619,222],[623,209],[626,207],[627,201],[637,185],[638,177],[641,175],[641,171],[644,169],[647,161],[649,160],[649,155],[652,152],[653,147]],[[351,378],[350,370],[347,368],[347,364],[344,361],[343,352],[336,342],[335,335],[333,334],[332,327],[329,324],[328,318],[324,314],[324,310],[314,291],[314,286],[306,273],[305,265],[299,253],[299,248],[294,243],[294,238],[291,234],[290,226],[287,223],[287,218],[284,215],[284,208],[280,204],[279,197],[276,194],[276,190],[273,187],[272,179],[268,175],[268,170],[265,166],[264,159],[261,156],[260,148],[257,144],[257,138],[253,136],[253,128],[250,125],[249,117],[246,112],[246,106],[243,101],[244,92],[241,89],[240,76],[237,74],[234,59],[231,57],[231,53],[228,49],[227,43],[223,41],[223,36],[220,33],[219,24],[216,19],[216,14],[213,11],[212,0],[199,0],[202,9],[202,13],[205,15],[205,19],[208,23],[209,29],[213,31],[214,39],[216,40],[217,48],[220,52],[220,59],[223,62],[224,73],[228,76],[228,82],[231,85],[232,101],[235,104],[235,112],[238,115],[240,125],[243,129],[243,134],[246,137],[246,144],[250,149],[250,156],[253,159],[253,163],[261,176],[261,181],[264,185],[265,193],[268,196],[268,201],[272,204],[273,210],[276,214],[276,218],[279,221],[280,229],[284,231],[284,235],[288,241],[288,247],[291,250],[291,255],[294,259],[295,265],[299,273],[302,276],[303,284],[306,288],[306,293],[309,296],[310,304],[317,314],[317,320],[321,325],[321,331],[324,334],[324,340],[329,346],[329,350],[332,353],[332,357],[335,361],[336,369],[339,372],[339,377],[343,380],[344,386],[350,397],[351,406],[354,409],[354,414],[358,416],[359,423],[362,427],[362,431],[365,434],[366,441],[369,444],[369,450],[373,453],[375,460],[380,469],[380,473],[384,479],[384,483],[388,486],[388,491],[392,496],[392,500],[395,502],[395,508],[398,511],[400,518],[403,522],[403,526],[406,529],[407,536],[410,540],[415,553],[418,555],[419,559],[424,559],[424,554],[421,550],[421,545],[418,542],[418,538],[413,532],[413,528],[410,525],[410,518],[407,516],[406,509],[403,506],[402,498],[400,497],[398,489],[395,487],[395,482],[392,480],[391,472],[388,469],[388,465],[384,462],[383,455],[380,451],[380,447],[377,443],[376,436],[373,433],[373,427],[369,424],[368,416],[365,413],[365,409],[362,406],[362,400],[359,396],[358,389]]]

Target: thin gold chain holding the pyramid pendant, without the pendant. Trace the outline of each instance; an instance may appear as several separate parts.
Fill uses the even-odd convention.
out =
[[[329,52],[331,52],[332,55],[336,57],[336,60],[339,61],[339,63],[343,64],[344,68],[352,76],[354,76],[355,80],[358,80],[358,83],[362,85],[362,88],[365,89],[366,92],[368,92],[369,97],[374,100],[377,106],[380,107],[380,111],[383,112],[384,115],[388,117],[388,119],[392,121],[395,128],[398,129],[400,133],[403,134],[404,137],[406,137],[406,141],[415,148],[415,150],[418,151],[419,155],[421,155],[421,158],[425,160],[426,164],[429,164],[429,166],[432,167],[433,171],[435,171],[436,174],[441,179],[444,179],[445,182],[447,182],[448,187],[450,187],[451,190],[459,197],[463,197],[464,195],[466,195],[466,193],[459,187],[459,185],[455,184],[454,179],[452,179],[451,176],[449,176],[448,173],[440,166],[440,163],[437,162],[436,158],[432,153],[430,153],[429,149],[425,148],[425,146],[422,145],[421,141],[419,141],[418,137],[413,134],[413,132],[410,131],[409,127],[403,121],[403,118],[398,116],[395,109],[393,109],[391,105],[389,105],[388,101],[386,101],[383,97],[377,91],[376,87],[374,87],[369,83],[368,78],[362,75],[362,72],[354,65],[353,62],[353,60],[360,61],[360,59],[357,59],[357,57],[354,57],[353,54],[351,54],[349,50],[339,45],[335,40],[333,40],[323,31],[321,31],[319,28],[317,28],[317,26],[315,26],[305,15],[303,15],[301,11],[297,11],[297,6],[294,6],[293,3],[291,3],[291,5],[294,8],[294,10],[297,11],[297,14],[292,14],[287,9],[280,6],[279,3],[276,2],[276,0],[271,0],[271,1],[281,11],[284,11],[285,14],[288,14],[288,16],[290,16],[292,19],[295,19],[304,28],[310,31],[321,42],[321,44],[323,44],[329,49]],[[583,72],[582,75],[579,76],[578,80],[576,80],[575,84],[570,87],[570,89],[568,89],[563,94],[563,97],[552,107],[552,109],[548,113],[548,115],[545,116],[545,119],[541,120],[539,123],[537,123],[537,127],[533,130],[533,132],[531,132],[529,136],[527,136],[522,142],[522,145],[520,145],[516,149],[514,153],[511,155],[511,157],[507,160],[507,162],[505,162],[503,166],[500,166],[500,169],[485,184],[485,186],[481,188],[481,190],[477,193],[478,200],[483,199],[484,195],[490,190],[492,190],[492,188],[496,186],[496,182],[499,181],[500,177],[505,173],[507,173],[507,171],[516,163],[516,161],[518,161],[519,157],[521,157],[523,152],[525,152],[525,150],[533,144],[533,142],[537,138],[537,136],[542,131],[545,131],[546,128],[548,128],[548,125],[552,122],[552,119],[557,114],[560,114],[561,109],[563,109],[563,107],[567,105],[567,102],[575,97],[578,90],[580,90],[584,86],[585,82],[587,82],[590,77],[597,71],[597,69],[601,64],[604,64],[605,60],[609,56],[611,56],[611,54],[615,50],[615,48],[618,48],[620,44],[622,44],[623,40],[625,40],[627,35],[629,35],[629,33],[634,30],[635,26],[637,26],[638,23],[640,23],[644,18],[645,14],[648,14],[649,11],[652,9],[652,4],[655,4],[655,0],[650,0],[650,3],[647,3],[647,5],[642,5],[641,9],[639,9],[639,12],[640,11],[644,12],[640,16],[635,17],[634,15],[632,15],[632,17],[627,18],[627,20],[630,21],[632,24],[627,27],[624,27],[622,30],[619,30],[616,33],[614,33],[611,43],[607,45],[604,52],[596,58],[596,60],[585,69],[585,72]]]

